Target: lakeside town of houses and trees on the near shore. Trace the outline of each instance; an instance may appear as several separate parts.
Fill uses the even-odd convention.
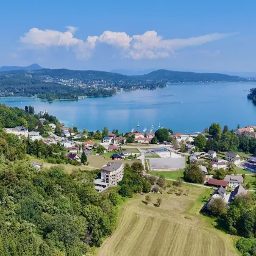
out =
[[[160,124],[157,130],[152,127],[149,132],[146,129],[141,132],[139,125],[137,130],[132,129],[125,134],[115,129],[108,132],[107,127],[102,132],[85,129],[79,132],[76,127],[66,127],[63,123],[49,123],[45,118],[48,115],[46,110],[39,115],[41,128],[37,126],[29,131],[27,127],[18,126],[5,127],[4,130],[31,141],[61,146],[68,164],[101,169],[101,176],[94,180],[94,187],[99,193],[117,185],[123,179],[124,166],[127,163],[140,162],[143,176],[168,173],[166,176],[172,177],[172,174],[180,172],[186,182],[216,188],[212,199],[202,208],[207,211],[207,206],[217,197],[228,204],[239,194],[247,193],[252,185],[249,182],[252,176],[249,175],[256,172],[256,126],[241,128],[238,125],[233,130],[225,126],[221,130],[219,124],[213,123],[204,132],[190,134],[174,133],[160,127]],[[247,149],[241,145],[244,143],[249,143]],[[250,143],[254,148],[250,148]],[[234,148],[236,151],[225,151],[225,147]],[[104,159],[103,164],[95,166],[94,163],[98,162],[99,157]],[[32,165],[40,170],[43,163],[35,160]],[[202,173],[201,180],[189,176],[194,166]],[[153,184],[151,193],[159,191],[159,187]]]

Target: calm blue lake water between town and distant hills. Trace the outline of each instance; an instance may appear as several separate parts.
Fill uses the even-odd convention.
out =
[[[220,123],[230,129],[256,125],[256,106],[246,96],[255,83],[171,84],[157,90],[123,91],[109,98],[85,98],[77,101],[47,102],[34,98],[1,98],[0,103],[35,112],[48,110],[67,126],[79,129],[121,132],[154,125],[174,132],[197,132]]]

